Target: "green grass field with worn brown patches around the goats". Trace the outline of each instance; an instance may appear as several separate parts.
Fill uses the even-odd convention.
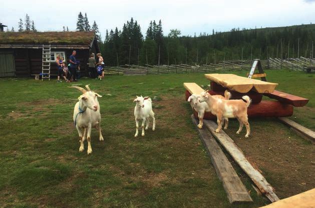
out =
[[[278,90],[308,98],[292,120],[315,130],[315,75],[266,71]],[[240,74],[245,75],[245,72]],[[93,153],[79,152],[69,83],[1,79],[0,207],[259,207],[251,181],[232,161],[254,202],[230,205],[192,124],[183,82],[206,86],[203,74],[81,79],[99,99],[104,142],[92,130]],[[134,138],[136,95],[157,96],[152,126]],[[249,119],[251,135],[226,131],[280,198],[315,187],[314,148],[274,118]],[[152,125],[152,122],[151,122]]]

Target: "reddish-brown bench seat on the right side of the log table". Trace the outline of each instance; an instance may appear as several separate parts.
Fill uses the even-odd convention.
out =
[[[273,91],[272,93],[264,93],[263,95],[269,98],[276,99],[282,103],[293,105],[295,107],[302,107],[308,102],[308,99],[306,98],[290,95],[277,90]]]

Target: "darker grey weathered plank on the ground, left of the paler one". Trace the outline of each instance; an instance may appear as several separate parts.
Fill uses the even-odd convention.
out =
[[[194,125],[197,126],[198,121],[193,117],[193,115],[191,115],[191,119]],[[223,183],[224,190],[230,203],[252,201],[244,184],[238,177],[231,163],[228,161],[213,136],[205,128],[197,128],[197,130],[199,132],[200,139],[211,158],[216,174]]]

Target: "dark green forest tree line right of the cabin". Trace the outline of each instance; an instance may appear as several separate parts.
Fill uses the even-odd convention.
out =
[[[163,34],[161,20],[149,23],[145,36],[131,18],[122,31],[106,31],[100,42],[108,66],[131,65],[202,65],[223,60],[292,58],[312,56],[315,27],[301,25],[276,29],[232,29],[199,36],[181,36],[179,30]],[[130,52],[130,53],[129,53]]]

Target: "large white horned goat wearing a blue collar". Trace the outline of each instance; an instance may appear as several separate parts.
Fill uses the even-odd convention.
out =
[[[79,151],[84,151],[83,141],[88,139],[88,154],[92,153],[91,147],[91,130],[97,128],[100,133],[100,141],[104,141],[101,130],[101,113],[100,104],[97,97],[102,97],[96,92],[91,91],[89,85],[85,86],[87,90],[82,87],[72,86],[80,90],[83,94],[78,98],[79,101],[76,103],[73,112],[73,121],[80,137],[80,148]],[[84,128],[84,134],[82,135],[81,129]]]

